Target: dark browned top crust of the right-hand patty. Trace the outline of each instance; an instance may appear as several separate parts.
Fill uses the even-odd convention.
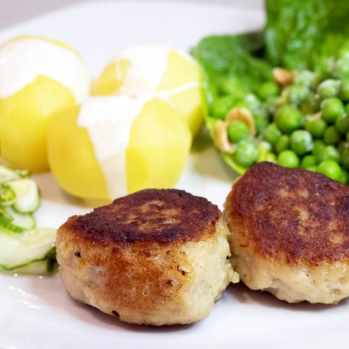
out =
[[[232,187],[225,219],[240,247],[264,258],[311,265],[349,258],[349,186],[322,174],[259,163]]]

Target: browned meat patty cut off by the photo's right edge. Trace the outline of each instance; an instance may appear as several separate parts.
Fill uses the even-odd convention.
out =
[[[290,303],[349,296],[349,187],[322,174],[259,163],[223,212],[233,266],[251,290]]]

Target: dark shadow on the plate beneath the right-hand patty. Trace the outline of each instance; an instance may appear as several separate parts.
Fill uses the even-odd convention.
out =
[[[225,292],[229,292],[237,302],[247,304],[260,304],[261,306],[267,306],[269,308],[284,309],[285,311],[329,311],[334,309],[334,305],[331,304],[311,304],[309,302],[301,303],[288,303],[277,299],[269,292],[253,291],[244,285],[239,283],[237,285],[231,285]],[[344,299],[339,303],[339,306],[346,306],[348,299]]]

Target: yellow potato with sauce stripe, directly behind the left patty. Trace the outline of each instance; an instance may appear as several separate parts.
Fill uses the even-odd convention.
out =
[[[170,104],[149,95],[95,96],[52,117],[52,174],[68,193],[111,202],[174,186],[191,134]]]

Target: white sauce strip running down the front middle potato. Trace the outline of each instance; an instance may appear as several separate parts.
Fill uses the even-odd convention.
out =
[[[136,94],[91,97],[80,108],[77,126],[89,132],[112,199],[127,194],[126,148],[131,125],[150,99]]]

